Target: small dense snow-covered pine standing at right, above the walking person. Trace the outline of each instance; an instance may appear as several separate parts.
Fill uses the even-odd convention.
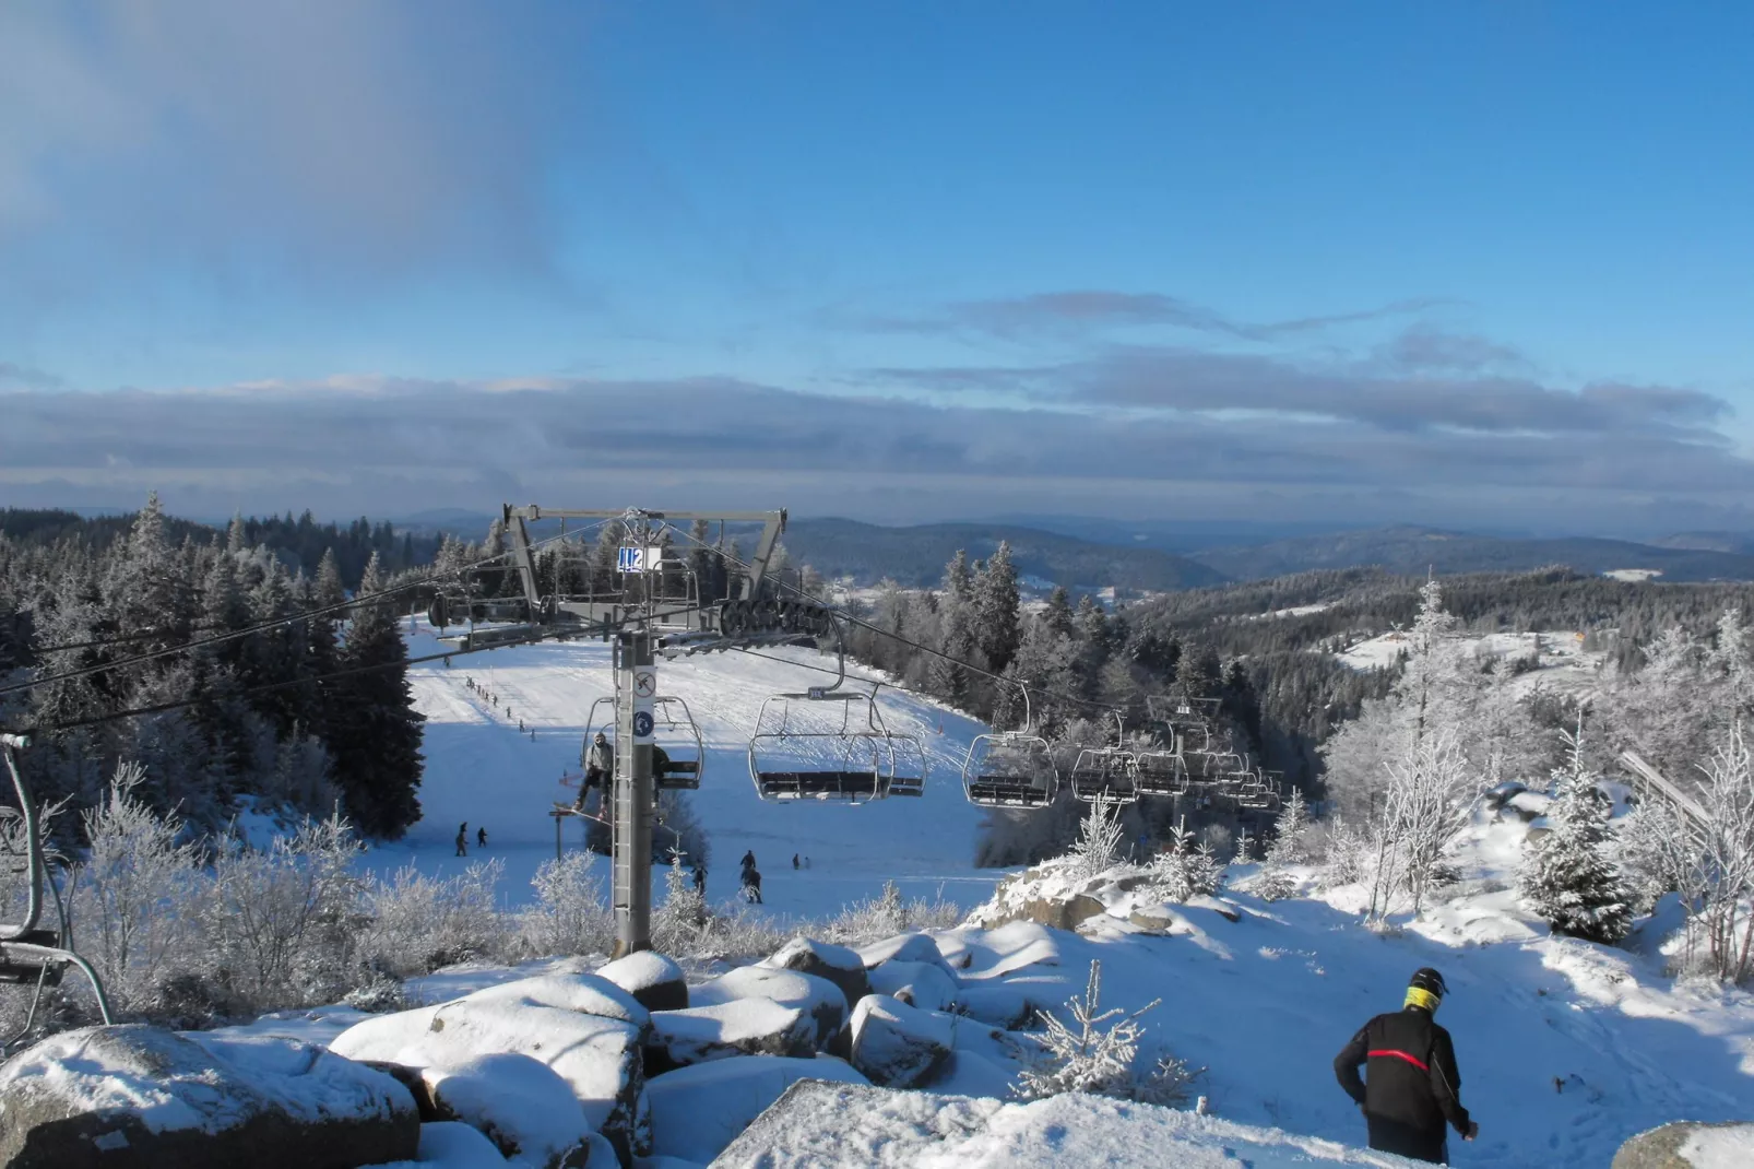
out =
[[[1614,944],[1631,930],[1631,897],[1608,857],[1608,814],[1584,765],[1582,728],[1566,741],[1570,765],[1552,776],[1552,830],[1531,841],[1522,858],[1522,899],[1554,934]]]

